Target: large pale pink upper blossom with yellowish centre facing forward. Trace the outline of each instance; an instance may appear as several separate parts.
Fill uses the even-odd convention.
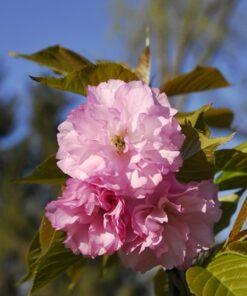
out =
[[[58,166],[121,195],[152,193],[181,166],[184,136],[164,93],[141,81],[89,86],[87,104],[60,124]]]

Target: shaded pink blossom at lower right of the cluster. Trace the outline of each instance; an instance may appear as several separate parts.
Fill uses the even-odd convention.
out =
[[[190,266],[212,245],[213,226],[221,214],[213,181],[181,184],[174,174],[144,200],[130,199],[126,204],[131,225],[120,255],[125,266],[141,272],[156,265]]]

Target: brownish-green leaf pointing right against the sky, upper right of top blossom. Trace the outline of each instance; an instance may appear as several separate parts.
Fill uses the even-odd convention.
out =
[[[161,86],[168,96],[182,95],[229,86],[222,73],[211,67],[196,67],[193,71],[168,80]]]

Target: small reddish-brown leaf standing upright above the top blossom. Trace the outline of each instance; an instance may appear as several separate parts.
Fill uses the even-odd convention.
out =
[[[146,84],[150,83],[151,57],[149,45],[147,45],[145,50],[141,53],[135,72],[140,80],[144,81]]]

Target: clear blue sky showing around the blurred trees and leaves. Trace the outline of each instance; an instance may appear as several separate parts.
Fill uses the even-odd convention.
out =
[[[125,0],[127,1],[127,0]],[[129,0],[131,4],[138,1]],[[4,84],[4,94],[16,93],[21,98],[18,120],[19,128],[12,139],[18,140],[25,134],[25,121],[28,116],[27,85],[33,84],[28,75],[39,75],[42,68],[21,59],[8,57],[9,51],[20,53],[33,53],[42,48],[61,44],[78,51],[95,60],[99,58],[126,61],[128,52],[126,40],[118,36],[113,38],[112,11],[113,0],[3,0],[0,10],[0,65],[6,69],[7,81]],[[243,5],[238,7],[233,22],[237,22],[239,13],[245,11],[247,1],[240,1]],[[138,21],[138,20],[137,20]],[[152,33],[152,32],[151,32]],[[131,34],[131,32],[129,32]],[[246,41],[246,40],[245,40]],[[242,53],[246,54],[246,42],[243,43]],[[245,101],[246,85],[239,80],[244,79],[241,67],[239,75],[229,70],[225,65],[224,57],[219,55],[215,65],[223,70],[227,78],[236,85],[222,91],[195,94],[188,106],[195,109],[207,102],[214,102],[215,106],[229,106],[233,110],[241,109]],[[246,65],[245,59],[241,63]],[[240,67],[239,67],[240,70]],[[246,73],[246,72],[245,72]],[[7,96],[6,96],[7,97]],[[219,99],[220,98],[220,99]],[[236,104],[237,102],[237,104]],[[243,120],[242,118],[241,120]],[[242,123],[242,121],[240,121]],[[247,123],[247,121],[245,120]],[[9,139],[8,139],[9,143]]]

